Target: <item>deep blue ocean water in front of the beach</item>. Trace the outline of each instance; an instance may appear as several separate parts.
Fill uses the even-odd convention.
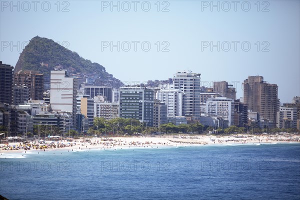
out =
[[[0,164],[8,199],[300,199],[299,143],[4,152]]]

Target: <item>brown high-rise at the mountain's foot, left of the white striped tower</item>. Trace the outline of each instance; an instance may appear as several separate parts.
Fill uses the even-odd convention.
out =
[[[28,87],[29,98],[43,99],[43,74],[38,71],[18,71],[14,73],[14,84]]]

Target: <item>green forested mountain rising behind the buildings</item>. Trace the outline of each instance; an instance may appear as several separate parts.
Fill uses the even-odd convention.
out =
[[[106,72],[105,67],[80,57],[78,53],[65,48],[52,39],[35,36],[20,53],[14,67],[19,70],[37,70],[49,81],[50,70],[67,69],[70,75],[89,78],[95,85],[121,86],[122,82]]]

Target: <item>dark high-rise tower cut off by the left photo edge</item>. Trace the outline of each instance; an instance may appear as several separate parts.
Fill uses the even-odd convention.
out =
[[[0,61],[0,102],[12,103],[13,66],[2,64]]]

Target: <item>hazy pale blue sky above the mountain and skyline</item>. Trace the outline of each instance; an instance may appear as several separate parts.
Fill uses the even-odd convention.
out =
[[[242,81],[258,74],[279,86],[281,102],[300,95],[299,1],[213,4],[219,7],[210,0],[29,0],[13,5],[0,0],[0,60],[14,66],[22,45],[38,35],[66,41],[68,49],[122,81],[167,79],[189,69],[201,73],[203,85],[237,83],[239,97]],[[116,45],[112,50],[111,42]]]

